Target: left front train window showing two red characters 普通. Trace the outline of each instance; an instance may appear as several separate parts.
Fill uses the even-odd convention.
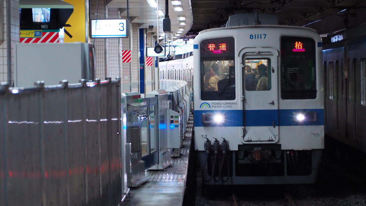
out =
[[[201,42],[201,100],[235,99],[234,47],[233,37]]]

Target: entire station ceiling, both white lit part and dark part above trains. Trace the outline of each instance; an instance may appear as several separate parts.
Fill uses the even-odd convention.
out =
[[[162,11],[159,30],[154,4]],[[107,5],[119,8],[120,15],[127,16],[127,0],[107,0]],[[131,22],[140,28],[153,26],[151,32],[160,37],[162,44],[177,38],[194,38],[201,30],[225,26],[230,15],[250,12],[276,14],[281,25],[306,26],[319,34],[366,23],[366,0],[129,0],[128,8]],[[172,25],[172,33],[167,34],[163,32],[166,11]],[[179,20],[182,16],[184,23]]]

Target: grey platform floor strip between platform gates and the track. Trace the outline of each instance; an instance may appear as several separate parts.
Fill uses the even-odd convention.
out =
[[[172,158],[172,165],[162,171],[146,171],[149,181],[131,188],[122,206],[179,206],[183,204],[187,182],[188,159],[193,129],[193,115],[188,119],[181,156]]]

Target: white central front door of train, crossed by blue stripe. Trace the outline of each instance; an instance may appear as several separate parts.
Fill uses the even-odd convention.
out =
[[[278,122],[278,52],[271,47],[243,48],[243,143],[276,143]],[[248,67],[249,66],[249,67]]]

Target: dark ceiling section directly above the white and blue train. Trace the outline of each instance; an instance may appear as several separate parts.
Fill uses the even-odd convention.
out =
[[[193,25],[183,38],[194,38],[201,30],[225,26],[228,16],[247,12],[277,14],[281,25],[306,26],[319,34],[366,23],[366,0],[190,1]]]

